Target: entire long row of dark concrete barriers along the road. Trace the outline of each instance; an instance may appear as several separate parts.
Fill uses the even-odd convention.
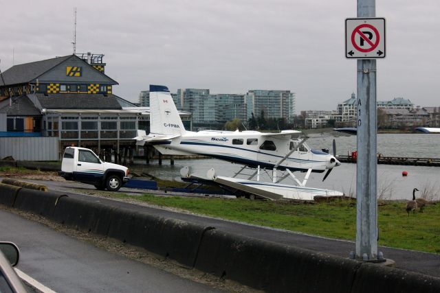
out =
[[[140,246],[268,292],[440,292],[440,278],[221,231],[212,226],[0,184],[0,204]]]

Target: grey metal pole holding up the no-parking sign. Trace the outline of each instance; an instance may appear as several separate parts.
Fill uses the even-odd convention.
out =
[[[375,17],[375,0],[358,0],[358,17]],[[358,60],[356,253],[377,259],[376,60]]]

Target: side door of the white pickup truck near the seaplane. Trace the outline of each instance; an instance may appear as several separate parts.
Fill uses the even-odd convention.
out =
[[[98,156],[91,150],[78,150],[78,161],[76,162],[76,172],[74,180],[84,183],[97,183],[102,180],[104,171]]]

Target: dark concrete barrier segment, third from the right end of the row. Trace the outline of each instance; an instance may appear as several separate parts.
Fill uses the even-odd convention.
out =
[[[160,218],[128,209],[115,211],[108,236],[122,242],[141,246],[156,255],[173,259],[192,268],[197,250],[209,226],[182,220]]]

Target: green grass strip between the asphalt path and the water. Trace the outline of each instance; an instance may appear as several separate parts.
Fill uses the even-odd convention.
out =
[[[293,204],[241,198],[184,198],[148,194],[118,194],[118,197],[135,198],[159,207],[175,207],[215,218],[335,239],[355,240],[356,204],[351,200]],[[426,207],[424,213],[411,213],[409,217],[404,209],[405,205],[405,202],[387,202],[378,207],[378,245],[440,253],[440,204]]]

